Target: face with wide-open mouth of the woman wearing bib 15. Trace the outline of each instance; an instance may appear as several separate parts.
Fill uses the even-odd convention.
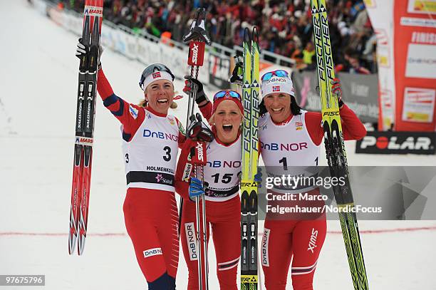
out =
[[[239,125],[242,122],[242,113],[233,100],[223,100],[214,113],[217,138],[224,144],[230,144],[238,137]]]

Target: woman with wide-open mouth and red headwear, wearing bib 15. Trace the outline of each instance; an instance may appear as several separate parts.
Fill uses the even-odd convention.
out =
[[[201,86],[201,84],[200,84]],[[202,88],[198,90],[202,95]],[[241,252],[241,227],[239,198],[239,173],[241,172],[241,130],[243,109],[239,93],[232,90],[219,91],[214,95],[214,104],[203,99],[200,110],[209,119],[214,140],[207,143],[207,165],[204,165],[206,185],[207,240],[209,225],[212,229],[217,255],[217,276],[222,290],[237,290],[237,268]],[[212,111],[212,116],[211,116]],[[210,118],[209,118],[210,117]],[[180,239],[183,254],[189,269],[189,290],[199,289],[197,249],[195,239],[195,204],[190,200],[190,150],[196,141],[188,139],[182,148],[176,173],[176,192],[185,200],[182,209]],[[204,281],[204,280],[203,280]],[[204,285],[203,285],[204,289]]]

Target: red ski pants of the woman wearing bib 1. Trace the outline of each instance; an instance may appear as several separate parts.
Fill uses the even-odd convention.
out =
[[[314,190],[311,194],[318,195],[319,192]],[[291,204],[279,202],[279,204],[295,205],[293,202]],[[322,207],[323,202],[312,203],[310,206]],[[296,218],[296,215],[291,215],[291,218]],[[313,289],[313,274],[326,239],[326,229],[325,213],[306,215],[306,217],[302,215],[298,219],[278,218],[277,214],[266,214],[264,235],[261,240],[261,264],[267,290],[286,289],[291,261],[293,289]]]

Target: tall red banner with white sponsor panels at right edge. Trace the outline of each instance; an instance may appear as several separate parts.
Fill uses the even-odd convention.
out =
[[[394,130],[435,131],[436,1],[397,0]]]

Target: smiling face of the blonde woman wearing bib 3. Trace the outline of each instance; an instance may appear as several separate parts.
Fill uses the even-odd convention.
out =
[[[166,115],[174,99],[174,86],[170,81],[157,80],[145,88],[144,95],[150,108]]]

